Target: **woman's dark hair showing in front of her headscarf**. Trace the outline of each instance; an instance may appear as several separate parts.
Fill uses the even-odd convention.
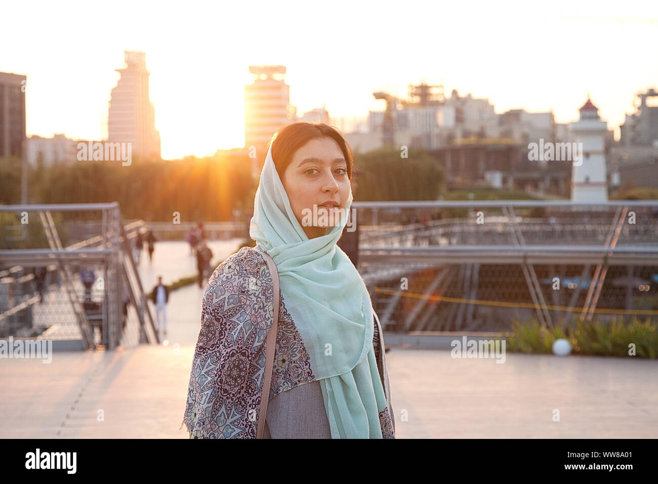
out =
[[[345,161],[347,162],[347,177],[351,180],[352,167],[354,165],[352,149],[338,128],[329,126],[324,122],[293,122],[274,133],[267,146],[269,148],[270,144],[272,145],[272,160],[279,176],[283,176],[297,149],[311,140],[324,136],[332,138],[340,146],[341,151],[343,151],[343,157],[345,157]]]

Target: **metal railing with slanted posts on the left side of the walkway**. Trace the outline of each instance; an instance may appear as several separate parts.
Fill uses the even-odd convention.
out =
[[[131,333],[138,335],[131,344],[159,342],[130,250],[129,238],[143,230],[143,221],[124,227],[118,203],[0,205],[1,212],[24,217],[24,230],[30,234],[20,240],[5,238],[0,250],[1,333],[20,330],[68,342],[68,347],[75,347],[70,344],[77,340],[84,349],[98,344],[114,349],[126,344]],[[95,234],[80,240],[90,230]],[[45,279],[50,282],[29,273],[39,267],[47,267]],[[93,284],[82,281],[80,267],[101,277]],[[130,317],[124,315],[126,293],[134,308]],[[129,320],[132,324],[126,325]],[[95,328],[101,333],[98,340]]]

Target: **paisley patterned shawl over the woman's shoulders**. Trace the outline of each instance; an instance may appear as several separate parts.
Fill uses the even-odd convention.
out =
[[[255,439],[273,305],[272,275],[257,250],[243,247],[215,269],[203,296],[201,331],[181,424],[190,438]],[[388,402],[379,414],[382,437],[394,439],[383,341],[378,324],[374,329],[374,352]],[[269,400],[312,381],[309,354],[281,297]]]

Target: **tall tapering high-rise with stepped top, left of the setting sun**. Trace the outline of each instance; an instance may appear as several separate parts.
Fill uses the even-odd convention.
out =
[[[146,54],[125,51],[126,67],[112,89],[107,117],[108,141],[132,143],[134,157],[159,159],[160,133],[155,129],[155,109],[149,99]]]

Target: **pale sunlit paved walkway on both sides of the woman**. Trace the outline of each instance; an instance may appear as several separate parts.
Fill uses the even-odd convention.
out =
[[[159,244],[150,269],[142,258],[147,290],[157,273],[172,282],[193,270],[174,244]],[[216,257],[236,251],[219,244]],[[202,294],[171,293],[161,346],[1,359],[0,438],[188,438],[179,427]],[[398,438],[658,437],[656,360],[507,353],[500,364],[400,346],[387,359]]]

